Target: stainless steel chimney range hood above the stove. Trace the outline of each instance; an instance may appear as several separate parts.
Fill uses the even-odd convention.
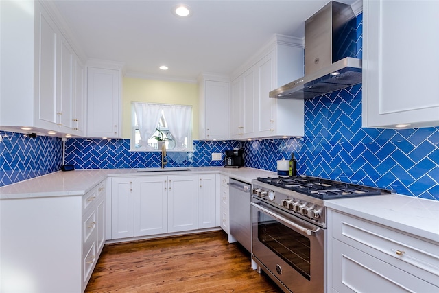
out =
[[[270,97],[311,99],[361,83],[355,14],[351,5],[329,2],[305,21],[305,76],[270,91]]]

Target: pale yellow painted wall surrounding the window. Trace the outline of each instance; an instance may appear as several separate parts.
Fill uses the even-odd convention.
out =
[[[198,139],[198,84],[123,78],[123,138],[131,138],[131,102],[150,102],[192,106],[192,139]]]

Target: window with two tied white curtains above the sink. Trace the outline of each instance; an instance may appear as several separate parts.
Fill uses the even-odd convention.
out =
[[[192,150],[192,106],[132,102],[131,150]],[[146,139],[145,139],[146,138]]]

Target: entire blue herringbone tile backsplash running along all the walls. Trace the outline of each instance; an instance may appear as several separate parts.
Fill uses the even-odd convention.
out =
[[[339,46],[342,56],[361,58],[361,25],[362,14],[345,27],[346,38],[337,40],[349,44]],[[0,186],[60,169],[59,139],[0,135]],[[299,174],[439,200],[439,128],[361,128],[361,84],[305,101],[302,139],[194,141],[193,146],[194,152],[168,152],[168,166],[222,166],[223,161],[211,161],[211,153],[224,159],[225,150],[243,148],[247,167],[276,171],[276,161],[294,152]],[[68,139],[66,163],[76,169],[160,166],[160,152],[129,148],[126,139]]]

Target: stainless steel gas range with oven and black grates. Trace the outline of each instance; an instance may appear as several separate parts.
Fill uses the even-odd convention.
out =
[[[285,292],[326,292],[325,200],[391,191],[299,176],[252,180],[252,259]]]

